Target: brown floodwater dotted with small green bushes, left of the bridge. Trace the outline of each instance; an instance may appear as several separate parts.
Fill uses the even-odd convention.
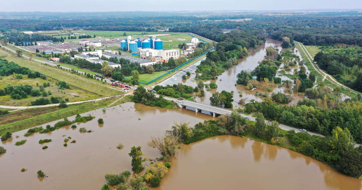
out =
[[[156,149],[148,147],[151,136],[163,135],[166,130],[171,130],[174,122],[185,121],[194,126],[198,122],[213,119],[210,115],[192,110],[161,109],[132,102],[110,107],[105,113],[97,109],[81,115],[87,114],[96,118],[77,124],[74,130],[66,126],[28,137],[24,137],[27,130],[22,130],[14,132],[13,138],[1,142],[0,146],[7,152],[0,155],[0,189],[98,190],[106,183],[106,173],[118,174],[131,170],[128,153],[132,146],[142,146],[145,157],[155,159],[161,155]],[[74,118],[68,117],[70,120]],[[98,118],[104,119],[103,125],[98,125]],[[49,124],[54,126],[58,121]],[[45,128],[47,124],[42,126]],[[82,134],[79,132],[80,127],[94,132]],[[20,137],[15,138],[16,135]],[[72,139],[64,147],[64,139],[68,136]],[[24,145],[14,145],[24,139],[27,140]],[[52,142],[39,144],[40,139],[52,139]],[[76,140],[76,143],[70,143],[72,140]],[[118,143],[124,145],[123,149],[116,148]],[[49,148],[43,150],[45,145]],[[28,170],[20,172],[22,168]],[[39,181],[38,170],[43,170],[49,177]]]

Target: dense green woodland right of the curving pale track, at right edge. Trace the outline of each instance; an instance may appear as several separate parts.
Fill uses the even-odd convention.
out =
[[[362,92],[362,47],[320,47],[314,61],[340,83]]]

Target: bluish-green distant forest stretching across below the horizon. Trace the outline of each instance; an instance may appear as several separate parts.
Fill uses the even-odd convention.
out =
[[[35,14],[35,13],[34,13]],[[40,14],[40,13],[38,13]],[[80,13],[78,13],[80,14]],[[0,31],[9,35],[9,31],[38,31],[62,30],[66,28],[84,30],[115,30],[115,31],[158,31],[168,28],[171,32],[192,32],[203,37],[220,41],[222,29],[239,29],[253,35],[281,40],[289,37],[291,40],[303,42],[304,45],[331,46],[336,44],[362,46],[362,14],[358,12],[325,12],[309,14],[220,14],[200,15],[181,13],[147,13],[139,12],[139,16],[130,13],[130,16],[101,13],[95,16],[79,16],[76,13],[60,13],[57,19],[0,19]],[[82,13],[86,14],[86,13]],[[108,15],[109,14],[109,15]],[[42,15],[42,14],[40,14]],[[75,18],[68,20],[68,16]],[[1,13],[0,13],[1,16]],[[27,16],[25,15],[22,15]],[[121,17],[121,16],[119,16]],[[30,17],[31,18],[31,17]],[[48,18],[44,13],[40,18]],[[224,21],[224,19],[252,18],[249,21]],[[216,21],[216,20],[223,21]],[[12,36],[14,37],[14,36]],[[13,41],[13,40],[12,40]]]

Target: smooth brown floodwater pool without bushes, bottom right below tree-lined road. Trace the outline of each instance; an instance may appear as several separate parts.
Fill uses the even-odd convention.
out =
[[[152,190],[362,188],[361,180],[311,157],[237,136],[183,145],[170,162],[161,185]]]

